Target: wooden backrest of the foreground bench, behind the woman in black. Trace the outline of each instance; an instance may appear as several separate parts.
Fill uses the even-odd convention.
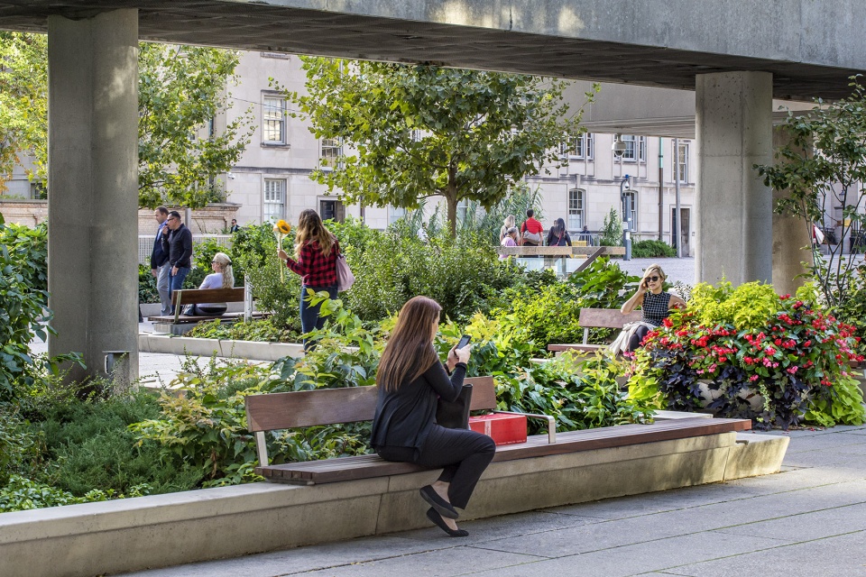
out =
[[[493,377],[474,377],[465,382],[472,383],[471,410],[496,408]],[[248,395],[245,398],[247,429],[255,433],[372,421],[377,395],[375,386]]]

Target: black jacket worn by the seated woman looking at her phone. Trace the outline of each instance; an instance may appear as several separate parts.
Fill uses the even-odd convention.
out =
[[[418,379],[403,383],[397,390],[380,388],[373,417],[373,448],[419,450],[436,423],[438,398],[455,400],[463,389],[465,375],[466,365],[462,362],[456,364],[450,378],[442,363],[434,362]]]

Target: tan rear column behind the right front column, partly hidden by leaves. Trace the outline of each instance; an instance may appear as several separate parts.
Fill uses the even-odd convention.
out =
[[[790,142],[784,127],[773,130],[773,149]],[[784,160],[777,159],[776,162]],[[788,197],[786,190],[773,190],[773,207],[780,198]],[[793,295],[806,282],[796,277],[805,272],[803,263],[812,264],[812,237],[806,220],[791,215],[773,213],[773,287],[779,295]]]

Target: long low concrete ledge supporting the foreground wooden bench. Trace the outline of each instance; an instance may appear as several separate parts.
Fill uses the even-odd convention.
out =
[[[701,435],[493,463],[462,519],[778,472],[788,437]],[[0,515],[0,574],[78,577],[428,527],[438,471],[327,485],[253,483]]]

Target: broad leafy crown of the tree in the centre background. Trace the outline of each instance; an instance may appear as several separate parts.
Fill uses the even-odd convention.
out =
[[[303,68],[307,94],[287,93],[299,107],[290,114],[351,149],[312,178],[364,205],[443,197],[452,234],[458,203],[493,206],[525,175],[558,164],[560,144],[582,132],[583,108],[569,114],[559,80],[324,58]]]

